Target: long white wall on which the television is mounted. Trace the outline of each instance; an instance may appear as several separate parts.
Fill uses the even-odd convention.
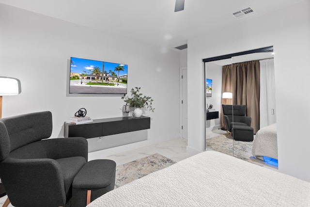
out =
[[[122,116],[121,96],[67,97],[70,57],[128,64],[128,92],[135,86],[154,98],[148,141],[108,150],[117,153],[180,136],[179,52],[118,38],[55,18],[0,4],[0,76],[21,81],[22,93],[3,97],[2,117],[51,111],[52,137],[80,108],[93,119]]]

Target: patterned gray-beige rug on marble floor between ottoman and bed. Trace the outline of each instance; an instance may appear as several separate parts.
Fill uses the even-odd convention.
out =
[[[154,154],[116,166],[115,188],[139,179],[157,170],[164,169],[176,163],[160,154]]]

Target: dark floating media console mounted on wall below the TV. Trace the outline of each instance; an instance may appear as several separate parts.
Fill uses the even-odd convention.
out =
[[[64,137],[85,137],[88,139],[121,134],[148,129],[150,128],[150,122],[150,117],[141,116],[140,118],[116,117],[94,119],[93,122],[79,125],[65,123]]]

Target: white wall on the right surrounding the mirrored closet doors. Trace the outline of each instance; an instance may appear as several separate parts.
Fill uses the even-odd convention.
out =
[[[288,16],[289,14],[289,16]],[[227,31],[230,35],[227,35]],[[242,32],[240,32],[242,31]],[[310,181],[310,1],[188,40],[188,152],[203,150],[202,59],[274,46],[279,171]],[[306,75],[307,74],[307,75]],[[296,110],[291,110],[292,108]]]

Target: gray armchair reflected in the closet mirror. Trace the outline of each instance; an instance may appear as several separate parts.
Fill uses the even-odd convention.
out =
[[[232,133],[234,125],[251,126],[251,117],[247,115],[246,105],[224,105],[222,104],[224,123],[227,131]]]

